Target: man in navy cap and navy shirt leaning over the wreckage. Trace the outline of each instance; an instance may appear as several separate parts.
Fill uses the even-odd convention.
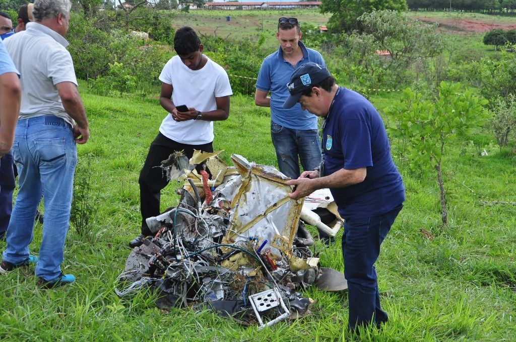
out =
[[[382,119],[367,99],[338,87],[328,70],[315,63],[295,70],[287,88],[285,108],[299,102],[303,110],[324,117],[320,169],[288,181],[297,185],[289,196],[298,199],[318,189],[331,190],[345,219],[342,253],[349,330],[369,323],[379,328],[388,316],[381,310],[374,264],[405,200]]]

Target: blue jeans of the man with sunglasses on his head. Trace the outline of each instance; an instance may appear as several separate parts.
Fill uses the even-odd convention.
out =
[[[305,171],[319,166],[321,150],[316,129],[292,129],[271,122],[270,135],[278,166],[285,176],[292,179],[299,177],[299,160]]]

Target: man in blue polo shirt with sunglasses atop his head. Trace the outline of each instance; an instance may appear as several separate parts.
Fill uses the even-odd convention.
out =
[[[301,31],[296,18],[280,18],[276,37],[280,41],[277,52],[272,53],[262,63],[254,103],[256,106],[270,107],[270,128],[272,144],[280,171],[287,177],[299,177],[299,160],[304,170],[313,170],[320,163],[317,117],[297,104],[284,109],[283,102],[288,97],[285,85],[290,75],[302,64],[315,62],[326,66],[321,55],[307,48],[299,40]],[[270,97],[267,96],[270,91]]]

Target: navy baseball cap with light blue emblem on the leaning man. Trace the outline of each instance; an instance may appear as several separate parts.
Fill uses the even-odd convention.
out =
[[[315,84],[330,77],[331,74],[325,67],[317,63],[309,62],[299,66],[291,76],[291,81],[287,83],[287,89],[290,93],[287,100],[283,104],[283,108],[292,108],[301,97],[301,93]]]

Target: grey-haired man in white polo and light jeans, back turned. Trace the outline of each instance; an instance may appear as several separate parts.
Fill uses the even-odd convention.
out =
[[[22,103],[12,148],[20,189],[0,273],[31,260],[28,245],[43,193],[43,238],[36,276],[37,285],[44,288],[75,281],[73,275],[63,275],[60,265],[69,228],[76,144],[89,138],[68,41],[63,38],[70,8],[69,0],[36,0],[35,22],[4,41],[21,74]]]

